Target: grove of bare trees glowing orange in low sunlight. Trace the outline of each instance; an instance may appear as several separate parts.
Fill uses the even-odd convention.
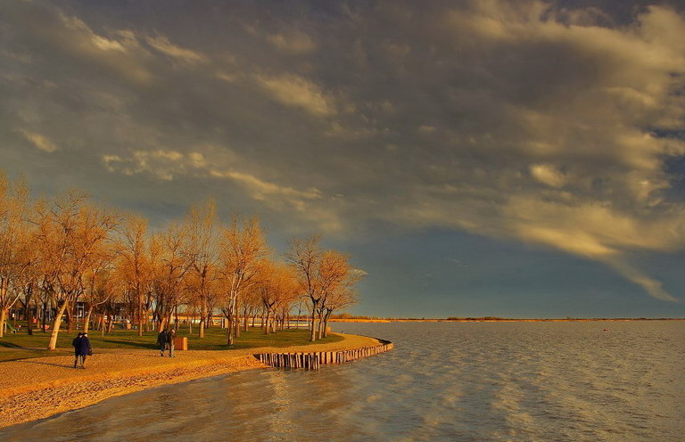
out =
[[[0,337],[8,312],[23,306],[29,333],[34,309],[44,322],[52,318],[43,330],[52,330],[54,349],[62,320],[69,330],[78,326],[79,303],[84,331],[95,323],[109,332],[121,321],[137,324],[141,336],[177,326],[181,316],[204,338],[220,315],[230,346],[249,318],[273,332],[304,300],[314,341],[326,337],[335,311],[356,301],[363,275],[348,255],[323,249],[318,236],[293,239],[278,258],[259,218],[222,224],[213,201],[151,232],[144,217],[103,207],[84,192],[32,199],[26,184],[0,173]]]

